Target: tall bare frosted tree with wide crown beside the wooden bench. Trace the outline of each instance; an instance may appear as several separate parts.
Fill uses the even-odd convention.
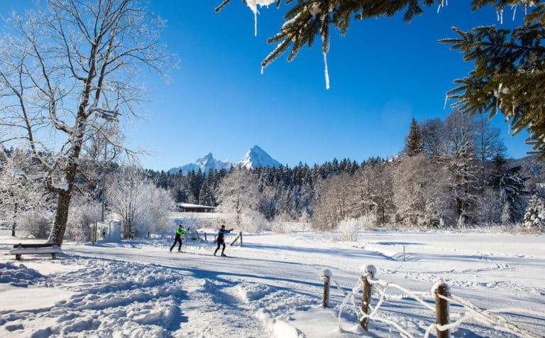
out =
[[[0,38],[0,125],[31,149],[57,194],[49,241],[61,244],[84,143],[136,113],[141,66],[162,72],[171,58],[159,43],[164,23],[143,1],[44,2],[13,13]]]

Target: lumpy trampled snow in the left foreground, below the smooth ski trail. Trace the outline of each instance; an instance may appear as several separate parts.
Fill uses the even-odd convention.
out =
[[[74,293],[40,310],[0,311],[4,332],[32,332],[32,337],[236,337],[243,331],[245,337],[263,337],[271,329],[265,327],[264,315],[271,321],[283,312],[307,310],[309,302],[316,302],[290,290],[238,283],[206,272],[194,278],[155,264],[83,256],[55,263],[81,268],[42,276],[18,263],[0,265],[16,271],[11,278],[2,274],[2,281],[11,286]],[[179,332],[181,325],[184,329]]]

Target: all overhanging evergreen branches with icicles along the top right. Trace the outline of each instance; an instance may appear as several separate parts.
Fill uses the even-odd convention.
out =
[[[219,11],[231,0],[224,0]],[[281,0],[275,1],[277,7]],[[276,45],[261,65],[266,67],[288,50],[287,60],[293,60],[299,50],[321,41],[321,53],[326,60],[329,51],[329,31],[338,28],[341,35],[348,32],[356,20],[394,16],[404,12],[403,20],[411,21],[423,13],[422,7],[443,6],[444,0],[285,0],[290,6],[280,31],[268,39]],[[453,28],[460,38],[447,38],[452,49],[463,53],[466,61],[474,61],[475,69],[468,77],[455,80],[458,87],[448,92],[455,99],[454,107],[463,113],[494,116],[501,111],[510,121],[514,133],[528,129],[529,143],[545,159],[545,3],[534,0],[473,0],[476,11],[483,6],[495,6],[497,11],[506,6],[524,6],[529,11],[524,25],[509,30],[494,26],[478,26],[470,31]],[[329,80],[326,80],[329,87]]]

